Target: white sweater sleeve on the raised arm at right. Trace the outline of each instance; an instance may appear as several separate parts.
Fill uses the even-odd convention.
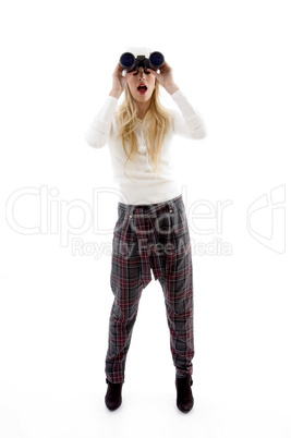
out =
[[[180,88],[174,92],[171,97],[180,109],[180,111],[172,111],[174,115],[174,133],[185,138],[204,138],[207,134],[207,130],[198,111],[189,102]]]

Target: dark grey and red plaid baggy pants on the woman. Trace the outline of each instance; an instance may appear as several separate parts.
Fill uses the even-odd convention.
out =
[[[194,357],[193,275],[182,195],[159,204],[118,204],[110,275],[114,301],[105,368],[107,379],[113,384],[124,381],[138,302],[143,289],[151,280],[150,269],[165,296],[177,375],[191,375]]]

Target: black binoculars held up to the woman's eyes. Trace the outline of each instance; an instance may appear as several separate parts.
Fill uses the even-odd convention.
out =
[[[144,54],[138,54],[135,58],[134,54],[126,51],[125,53],[121,54],[119,62],[123,70],[125,70],[128,73],[132,72],[133,70],[137,70],[138,72],[140,66],[142,66],[145,74],[149,74],[150,72],[148,72],[147,69],[149,68],[155,71],[159,70],[165,63],[165,58],[159,51],[153,51],[149,54],[149,58],[146,58]]]

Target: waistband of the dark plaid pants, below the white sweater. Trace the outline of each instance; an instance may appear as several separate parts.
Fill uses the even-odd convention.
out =
[[[144,214],[151,215],[157,214],[159,211],[177,211],[178,208],[184,210],[184,203],[182,195],[173,197],[172,199],[165,200],[158,204],[144,204],[144,205],[135,205],[135,204],[123,204],[118,203],[118,211],[119,212],[129,212],[129,214]]]

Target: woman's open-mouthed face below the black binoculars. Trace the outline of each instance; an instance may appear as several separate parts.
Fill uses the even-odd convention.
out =
[[[147,100],[150,99],[154,88],[155,88],[155,83],[156,83],[156,77],[154,74],[145,74],[144,69],[140,66],[137,73],[133,73],[132,75],[129,76],[128,80],[128,85],[131,92],[131,95],[134,100],[137,102],[146,102]],[[138,90],[138,87],[141,84],[146,86],[145,88],[141,88]]]

